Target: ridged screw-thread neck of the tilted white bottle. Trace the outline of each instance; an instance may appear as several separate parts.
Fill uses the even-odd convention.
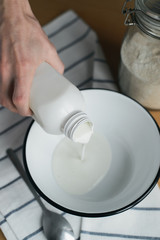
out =
[[[93,133],[93,124],[84,112],[74,113],[64,124],[63,133],[74,142],[87,143]]]

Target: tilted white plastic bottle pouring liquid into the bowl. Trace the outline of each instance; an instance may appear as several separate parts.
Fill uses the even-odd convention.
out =
[[[80,143],[87,143],[92,135],[93,124],[84,112],[81,92],[46,62],[35,73],[30,108],[47,133],[64,134]]]

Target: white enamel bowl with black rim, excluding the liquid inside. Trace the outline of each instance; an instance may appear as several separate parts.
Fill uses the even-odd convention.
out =
[[[159,128],[140,104],[120,93],[90,89],[82,94],[95,130],[110,143],[112,160],[106,177],[84,195],[61,189],[51,166],[63,136],[49,135],[35,122],[26,134],[24,165],[37,192],[53,206],[79,216],[109,216],[139,203],[157,183]]]

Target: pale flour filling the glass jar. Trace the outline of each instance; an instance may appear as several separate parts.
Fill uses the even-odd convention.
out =
[[[121,47],[122,92],[149,109],[160,109],[160,44],[137,27],[129,29]]]

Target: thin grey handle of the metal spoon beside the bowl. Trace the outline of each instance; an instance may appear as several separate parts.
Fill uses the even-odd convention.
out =
[[[44,204],[40,200],[39,195],[37,194],[37,192],[34,190],[33,186],[31,185],[23,167],[21,166],[21,163],[20,163],[20,161],[17,157],[17,154],[12,149],[7,149],[6,152],[7,152],[7,155],[9,157],[9,159],[12,161],[13,165],[18,170],[19,174],[21,175],[21,177],[23,178],[23,180],[25,181],[25,183],[29,187],[30,191],[33,193],[33,196],[38,201],[39,205],[42,207],[42,209],[46,209],[46,207],[44,206]]]

